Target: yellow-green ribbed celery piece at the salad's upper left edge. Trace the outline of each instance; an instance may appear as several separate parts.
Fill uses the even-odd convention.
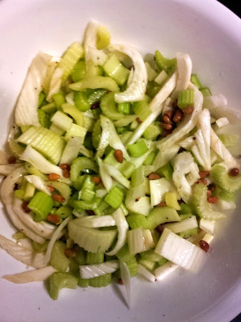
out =
[[[67,48],[58,65],[59,68],[63,69],[62,85],[64,85],[77,61],[83,56],[84,49],[78,42],[73,42]]]

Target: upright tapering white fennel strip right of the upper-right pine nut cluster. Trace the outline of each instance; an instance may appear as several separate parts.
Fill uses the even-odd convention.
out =
[[[203,167],[203,170],[211,170],[211,156],[210,156],[210,137],[211,124],[210,113],[208,109],[204,109],[198,118],[197,132],[194,134],[196,144],[191,148],[192,152],[198,159],[198,162]]]

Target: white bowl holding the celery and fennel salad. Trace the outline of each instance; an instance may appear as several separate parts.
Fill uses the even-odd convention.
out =
[[[187,52],[193,71],[213,94],[222,93],[240,109],[241,20],[213,0],[2,0],[0,2],[0,141],[27,68],[38,51],[60,55],[82,40],[86,23],[106,26],[112,42],[130,44],[143,54],[159,49],[173,57]],[[1,213],[0,233],[14,229]],[[0,280],[0,320],[182,322],[226,321],[241,310],[240,201],[218,224],[208,261],[197,274],[176,270],[162,282],[134,281],[129,310],[113,286],[64,289],[53,301],[42,283],[15,285]],[[0,250],[0,275],[24,271]]]

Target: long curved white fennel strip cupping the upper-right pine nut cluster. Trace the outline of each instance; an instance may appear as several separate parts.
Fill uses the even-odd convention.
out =
[[[183,119],[179,122],[179,125],[174,129],[174,131],[157,143],[157,147],[161,151],[165,151],[165,149],[169,148],[172,144],[182,139],[183,136],[190,132],[197,123],[199,113],[202,110],[203,96],[198,88],[191,82],[189,83],[188,88],[193,89],[195,92],[193,112],[191,114],[185,115],[185,117],[183,117]]]

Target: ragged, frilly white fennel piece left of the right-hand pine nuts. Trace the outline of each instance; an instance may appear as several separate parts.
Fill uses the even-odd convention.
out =
[[[193,171],[193,166],[195,165],[196,172],[198,173],[198,166],[194,163],[193,156],[190,152],[179,153],[174,160],[172,179],[177,187],[178,193],[186,203],[192,195],[192,187],[186,179],[186,175]]]

